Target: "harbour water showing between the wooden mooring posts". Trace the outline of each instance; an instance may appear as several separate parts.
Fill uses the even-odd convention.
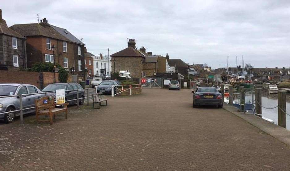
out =
[[[239,102],[239,94],[234,93],[233,94],[233,100]],[[255,94],[254,94],[254,100],[255,100]],[[246,103],[252,101],[252,93],[247,92],[245,95],[245,101]],[[266,108],[273,108],[278,105],[277,99],[270,99],[268,97],[262,96],[262,106]],[[286,102],[286,112],[290,114],[290,103]],[[274,109],[265,109],[262,107],[262,118],[264,119],[270,119],[274,121],[275,124],[278,125],[278,108]],[[288,130],[290,130],[290,116],[286,114],[286,127]]]

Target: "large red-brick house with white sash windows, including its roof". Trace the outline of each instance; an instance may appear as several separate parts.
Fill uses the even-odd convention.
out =
[[[26,36],[28,67],[54,61],[71,74],[79,75],[79,80],[85,79],[84,44],[66,29],[50,25],[46,18],[40,23],[15,24],[10,28]]]

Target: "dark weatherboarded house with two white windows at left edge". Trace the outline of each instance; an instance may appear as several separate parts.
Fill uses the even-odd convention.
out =
[[[26,68],[25,37],[7,27],[0,9],[0,69]]]

